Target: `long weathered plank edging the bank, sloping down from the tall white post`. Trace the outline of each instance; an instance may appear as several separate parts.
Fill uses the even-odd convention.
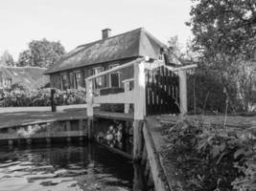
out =
[[[170,190],[167,180],[164,180],[164,171],[160,164],[159,158],[156,155],[155,147],[151,138],[151,133],[144,123],[143,136],[145,138],[145,146],[148,152],[148,159],[151,165],[151,174],[154,182],[156,191],[167,191]]]

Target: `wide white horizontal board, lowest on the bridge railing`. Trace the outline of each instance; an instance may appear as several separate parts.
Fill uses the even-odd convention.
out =
[[[119,93],[114,95],[106,95],[106,96],[95,96],[93,97],[94,103],[134,103],[135,101],[135,92],[128,91],[125,93]]]

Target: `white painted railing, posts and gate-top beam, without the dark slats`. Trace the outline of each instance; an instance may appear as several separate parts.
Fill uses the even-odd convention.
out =
[[[93,96],[93,80],[106,74],[118,72],[133,66],[133,78],[123,80],[124,93],[106,96]],[[134,119],[142,120],[146,116],[146,77],[145,69],[154,69],[160,66],[166,67],[168,70],[175,72],[179,76],[179,96],[180,96],[180,113],[187,113],[187,83],[186,83],[186,70],[196,68],[197,65],[182,66],[173,68],[166,66],[163,61],[148,62],[147,58],[138,58],[127,64],[112,68],[100,74],[95,74],[87,77],[86,80],[86,101],[87,101],[87,116],[93,117],[93,104],[102,103],[124,103],[125,113],[128,113],[129,104],[134,104]],[[130,90],[129,84],[133,81],[134,88]]]

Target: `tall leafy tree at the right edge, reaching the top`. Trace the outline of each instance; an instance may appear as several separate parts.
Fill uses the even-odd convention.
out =
[[[255,73],[256,5],[253,0],[192,0],[187,25],[195,37],[193,48],[202,67],[220,78],[230,103],[248,110],[251,80]],[[253,64],[254,63],[254,64]],[[235,93],[234,93],[235,91]]]

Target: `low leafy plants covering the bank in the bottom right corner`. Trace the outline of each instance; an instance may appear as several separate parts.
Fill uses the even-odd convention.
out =
[[[256,127],[227,129],[182,120],[168,130],[168,156],[189,190],[256,189]]]

